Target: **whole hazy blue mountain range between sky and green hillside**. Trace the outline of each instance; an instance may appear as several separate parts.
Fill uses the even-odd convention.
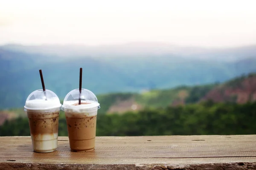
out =
[[[137,50],[141,46],[143,44],[138,45]],[[218,60],[218,57],[193,57],[195,54],[199,55],[199,52],[204,54],[206,49],[203,48],[196,48],[194,53],[190,49],[186,56],[185,52],[177,52],[176,46],[172,46],[176,54],[165,54],[163,49],[168,51],[169,45],[151,44],[152,54],[149,54],[150,50],[145,53],[148,45],[144,45],[142,52],[138,54],[136,51],[129,52],[129,49],[135,48],[134,44],[116,47],[120,47],[116,49],[116,53],[113,46],[104,46],[98,53],[90,53],[92,48],[86,46],[0,47],[0,108],[23,107],[26,97],[32,91],[41,89],[39,69],[43,71],[46,88],[54,91],[60,99],[72,89],[78,88],[80,67],[83,68],[83,88],[90,89],[96,95],[224,82],[242,74],[256,72],[253,46],[233,49],[234,54],[241,51],[240,57],[235,56],[235,60],[228,62]],[[99,47],[93,49],[97,52]],[[157,49],[160,52],[154,52]],[[63,55],[58,53],[61,50]],[[214,49],[213,52],[206,51],[213,56],[227,54],[220,50],[214,52]],[[64,56],[66,52],[67,55]]]

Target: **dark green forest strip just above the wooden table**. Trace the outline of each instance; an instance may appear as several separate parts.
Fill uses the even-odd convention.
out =
[[[144,108],[123,114],[99,114],[96,136],[239,135],[255,134],[256,102],[236,104],[205,101],[198,104]],[[67,136],[64,112],[59,136]],[[19,117],[0,126],[0,136],[29,136],[28,118]]]

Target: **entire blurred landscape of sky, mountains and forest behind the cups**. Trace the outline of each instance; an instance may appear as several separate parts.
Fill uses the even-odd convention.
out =
[[[98,97],[97,136],[255,134],[256,1],[2,0],[0,136],[27,96]],[[64,113],[59,136],[67,136]]]

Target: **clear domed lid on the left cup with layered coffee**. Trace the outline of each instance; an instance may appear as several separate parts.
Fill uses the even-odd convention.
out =
[[[48,110],[60,109],[61,102],[58,96],[50,90],[43,91],[42,89],[33,91],[26,99],[24,110]]]

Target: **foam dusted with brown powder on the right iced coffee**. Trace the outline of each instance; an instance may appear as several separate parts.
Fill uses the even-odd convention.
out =
[[[72,112],[86,112],[99,108],[99,103],[91,100],[82,100],[81,105],[78,105],[78,100],[65,101],[62,105],[62,110]]]

